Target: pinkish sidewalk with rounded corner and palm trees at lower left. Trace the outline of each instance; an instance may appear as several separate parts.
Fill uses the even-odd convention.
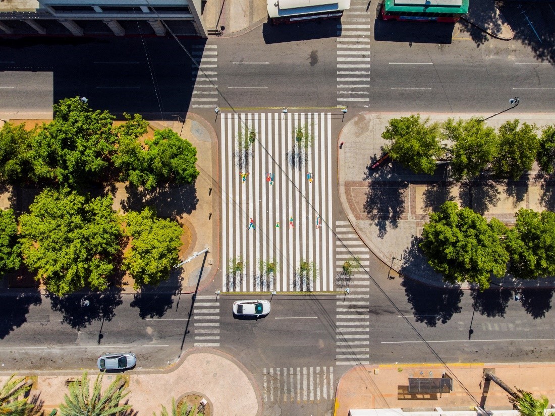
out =
[[[138,363],[140,366],[140,362]],[[36,377],[31,398],[39,395],[44,414],[59,408],[68,392],[65,381],[76,379],[82,372],[19,373],[18,377]],[[89,385],[94,383],[98,370],[88,373]],[[117,374],[105,374],[103,387],[114,381]],[[134,413],[150,416],[160,414],[162,405],[171,413],[171,399],[179,402],[186,394],[196,393],[208,401],[211,416],[255,416],[262,413],[263,405],[258,386],[251,374],[228,354],[209,348],[195,348],[186,352],[175,366],[164,371],[142,371],[140,367],[123,373],[130,390],[126,399]],[[0,383],[9,375],[2,374]],[[241,394],[237,394],[240,386]],[[137,413],[135,413],[137,412]],[[59,413],[58,413],[59,414]],[[208,413],[207,413],[208,414]]]

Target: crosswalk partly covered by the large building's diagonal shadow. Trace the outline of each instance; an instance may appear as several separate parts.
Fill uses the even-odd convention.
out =
[[[193,108],[218,106],[218,45],[193,45]],[[198,64],[200,69],[196,66]]]

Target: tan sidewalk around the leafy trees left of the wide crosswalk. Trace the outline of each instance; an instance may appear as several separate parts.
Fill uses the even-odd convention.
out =
[[[9,121],[14,124],[29,121],[34,125],[49,120],[11,119]],[[194,252],[204,250],[206,247],[209,248],[209,251],[206,258],[204,255],[199,255],[189,263],[175,268],[167,281],[154,288],[145,287],[142,292],[155,291],[160,293],[164,290],[176,292],[181,287],[181,293],[191,293],[196,290],[198,283],[198,290],[200,291],[213,280],[219,265],[220,204],[218,192],[213,191],[217,189],[219,177],[218,138],[208,121],[190,112],[183,123],[180,121],[149,121],[149,123],[150,129],[170,128],[178,134],[180,133],[181,138],[189,140],[195,146],[198,159],[196,165],[200,175],[194,186],[185,185],[161,189],[155,195],[150,196],[147,202],[156,206],[159,216],[174,217],[189,229],[190,236],[185,235],[182,240],[187,240],[185,243],[190,242],[190,245],[180,251],[180,261],[185,260]],[[123,182],[118,182],[114,184],[114,189],[110,190],[110,194],[114,197],[114,210],[124,213],[129,208],[141,209],[144,204],[140,202],[140,195],[128,195],[125,185]],[[23,209],[26,209],[32,203],[36,193],[36,190],[23,190]],[[12,207],[12,203],[11,192],[7,191],[0,194],[0,208]],[[202,274],[199,282],[200,272]],[[25,286],[19,286],[19,289],[24,290],[24,288]],[[19,289],[8,288],[7,280],[4,278],[4,288],[0,290],[3,292],[21,292]],[[133,282],[130,278],[124,278],[121,291],[122,293],[137,292],[133,288]],[[41,288],[41,293],[44,295],[46,291]]]

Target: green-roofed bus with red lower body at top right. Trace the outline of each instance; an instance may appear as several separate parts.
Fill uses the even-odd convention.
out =
[[[468,0],[382,0],[377,18],[397,21],[457,22],[468,13]]]

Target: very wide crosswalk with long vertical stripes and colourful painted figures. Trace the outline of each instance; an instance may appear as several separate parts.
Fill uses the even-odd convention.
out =
[[[331,113],[220,117],[223,291],[333,290]]]

